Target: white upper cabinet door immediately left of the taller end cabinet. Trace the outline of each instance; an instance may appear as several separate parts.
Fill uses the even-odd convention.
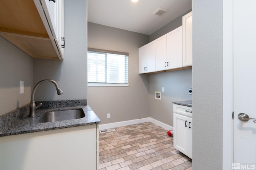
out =
[[[167,33],[168,68],[182,67],[182,26]]]

